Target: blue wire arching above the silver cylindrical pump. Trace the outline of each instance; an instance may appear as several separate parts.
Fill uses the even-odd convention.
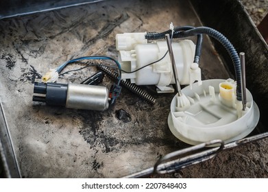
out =
[[[77,62],[79,60],[112,60],[113,62],[115,62],[117,64],[117,67],[119,69],[119,76],[118,76],[118,79],[117,79],[117,81],[118,81],[117,84],[118,85],[120,84],[120,81],[121,81],[121,64],[119,64],[119,62],[117,60],[114,60],[113,58],[106,57],[106,56],[87,56],[87,57],[82,57],[82,58],[75,58],[73,60],[69,60],[69,61],[64,62],[63,64],[61,64],[60,67],[58,67],[56,69],[56,71],[58,73],[60,73],[67,66],[67,64],[72,63],[72,62]]]

